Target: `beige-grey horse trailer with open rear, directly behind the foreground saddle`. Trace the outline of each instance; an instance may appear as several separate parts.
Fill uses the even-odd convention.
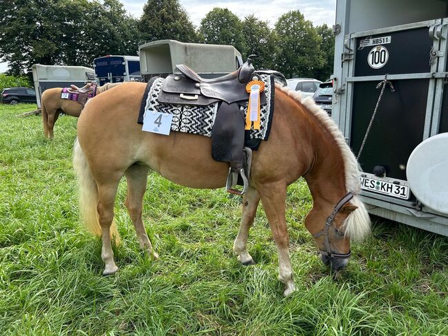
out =
[[[153,41],[139,47],[141,74],[145,81],[179,72],[176,64],[191,67],[203,78],[216,78],[243,65],[240,52],[232,45]]]

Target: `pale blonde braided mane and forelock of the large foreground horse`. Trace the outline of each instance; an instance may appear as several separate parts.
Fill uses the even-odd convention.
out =
[[[313,98],[303,98],[300,91],[293,91],[287,87],[281,87],[280,85],[276,85],[276,90],[285,92],[285,94],[301,103],[308,112],[311,112],[318,118],[323,127],[325,127],[334,137],[344,161],[345,188],[347,189],[347,192],[350,191],[354,193],[354,198],[352,198],[351,202],[358,207],[358,209],[350,213],[347,217],[343,229],[345,230],[345,234],[353,240],[363,240],[365,235],[370,231],[370,218],[369,213],[367,213],[367,209],[365,208],[365,204],[358,196],[358,193],[360,192],[360,167],[352,149],[350,149],[349,145],[345,142],[345,138],[342,132],[340,132],[338,125],[336,125],[334,120],[329,117],[327,112],[314,103]]]

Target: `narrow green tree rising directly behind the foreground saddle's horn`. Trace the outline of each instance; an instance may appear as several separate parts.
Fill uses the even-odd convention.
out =
[[[256,55],[254,67],[256,69],[274,69],[277,52],[276,35],[269,28],[267,22],[257,19],[254,15],[245,17],[243,36],[247,43],[246,56]]]

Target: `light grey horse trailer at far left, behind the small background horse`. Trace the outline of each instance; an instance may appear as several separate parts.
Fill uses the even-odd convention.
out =
[[[32,79],[36,90],[37,107],[41,108],[43,92],[52,87],[79,87],[95,81],[95,72],[90,67],[72,67],[63,65],[32,65]]]

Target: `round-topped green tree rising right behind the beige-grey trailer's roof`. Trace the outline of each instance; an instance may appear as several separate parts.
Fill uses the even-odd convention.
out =
[[[201,20],[201,41],[209,44],[233,45],[242,55],[247,52],[243,23],[227,8],[214,8]]]

